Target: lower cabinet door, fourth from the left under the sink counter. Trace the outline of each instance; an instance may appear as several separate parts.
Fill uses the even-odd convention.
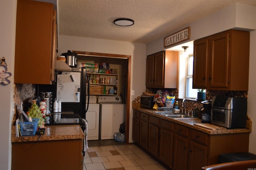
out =
[[[159,159],[170,168],[172,167],[172,147],[173,132],[161,128],[159,140]]]

